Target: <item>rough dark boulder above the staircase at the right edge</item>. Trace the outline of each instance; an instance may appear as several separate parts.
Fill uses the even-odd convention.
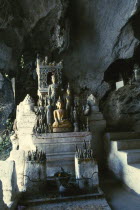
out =
[[[138,85],[126,85],[118,91],[112,91],[102,101],[101,109],[109,130],[139,131],[140,92]]]

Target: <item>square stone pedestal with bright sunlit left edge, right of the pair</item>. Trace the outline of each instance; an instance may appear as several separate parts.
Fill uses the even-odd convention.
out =
[[[75,157],[75,175],[80,189],[93,189],[99,185],[98,165],[93,159]]]

